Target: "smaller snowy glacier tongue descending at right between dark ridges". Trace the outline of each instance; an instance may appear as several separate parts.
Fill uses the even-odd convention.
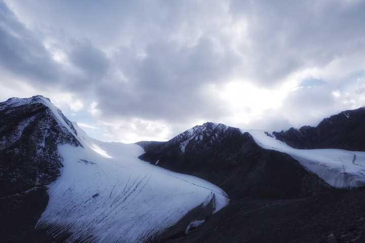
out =
[[[276,140],[270,132],[242,130],[242,132],[246,131],[252,135],[255,142],[262,148],[290,155],[333,187],[355,188],[365,186],[365,152],[341,149],[294,149]]]

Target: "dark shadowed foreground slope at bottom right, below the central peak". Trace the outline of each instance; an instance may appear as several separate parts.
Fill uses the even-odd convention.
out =
[[[365,189],[234,200],[188,235],[160,242],[365,242]]]

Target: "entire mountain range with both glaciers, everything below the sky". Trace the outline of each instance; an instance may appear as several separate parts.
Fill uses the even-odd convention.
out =
[[[365,242],[364,134],[360,108],[317,127],[207,122],[167,142],[104,143],[41,95],[10,98],[0,239]]]

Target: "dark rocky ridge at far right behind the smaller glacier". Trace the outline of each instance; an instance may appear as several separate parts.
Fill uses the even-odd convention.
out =
[[[341,112],[318,126],[273,132],[276,139],[297,149],[346,149],[365,151],[365,108]]]

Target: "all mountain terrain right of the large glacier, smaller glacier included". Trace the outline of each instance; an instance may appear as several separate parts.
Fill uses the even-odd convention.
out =
[[[282,132],[204,123],[168,142],[137,143],[141,159],[206,179],[232,199],[174,242],[364,242],[362,114]]]

